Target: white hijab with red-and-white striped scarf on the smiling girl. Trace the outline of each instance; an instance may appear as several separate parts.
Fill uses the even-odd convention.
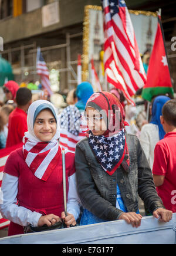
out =
[[[41,106],[43,105],[44,106]],[[56,117],[57,121],[57,130],[55,136],[53,136],[50,142],[41,142],[38,137],[36,137],[33,125],[34,117],[37,117],[41,110],[37,110],[38,107],[43,107],[47,109],[48,107],[55,113],[53,115]],[[36,110],[38,113],[36,113]],[[59,146],[58,139],[60,137],[60,127],[57,116],[57,109],[53,106],[52,103],[46,100],[37,100],[34,101],[28,110],[28,132],[25,133],[23,137],[23,156],[25,157],[25,162],[28,165],[29,169],[32,170],[33,174],[42,180],[47,180],[52,173],[53,169],[56,168],[59,157],[61,153],[61,148]]]

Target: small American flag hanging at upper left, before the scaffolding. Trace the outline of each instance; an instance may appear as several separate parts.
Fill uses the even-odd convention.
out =
[[[45,60],[43,59],[43,55],[42,55],[42,52],[40,51],[40,48],[38,48],[38,53],[37,53],[36,70],[37,70],[37,74],[40,76],[42,86],[46,88],[46,90],[48,91],[48,94],[51,96],[53,92],[50,88],[49,70],[48,70],[48,67],[46,66]]]

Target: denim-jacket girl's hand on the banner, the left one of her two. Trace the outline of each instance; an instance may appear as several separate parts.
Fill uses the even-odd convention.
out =
[[[143,218],[143,216],[136,214],[136,212],[124,212],[124,214],[121,214],[119,217],[119,219],[124,219],[128,224],[136,228],[140,227],[141,218]]]

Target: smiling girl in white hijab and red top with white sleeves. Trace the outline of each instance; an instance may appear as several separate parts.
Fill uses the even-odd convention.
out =
[[[11,221],[8,235],[23,227],[51,226],[62,218],[76,225],[80,201],[76,191],[75,154],[66,152],[67,216],[64,212],[62,149],[57,110],[49,101],[34,101],[28,110],[23,147],[12,152],[4,168],[0,212]]]

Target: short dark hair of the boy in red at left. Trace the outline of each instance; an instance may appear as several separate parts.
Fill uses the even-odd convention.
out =
[[[26,87],[19,88],[16,92],[16,103],[18,106],[25,106],[32,99],[31,90]]]

